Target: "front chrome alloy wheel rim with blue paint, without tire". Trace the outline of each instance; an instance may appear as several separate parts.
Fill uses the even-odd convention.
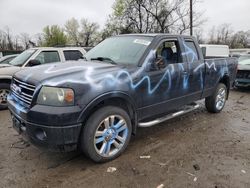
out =
[[[94,138],[96,152],[102,157],[116,155],[128,137],[128,125],[119,115],[105,118],[97,127]]]

